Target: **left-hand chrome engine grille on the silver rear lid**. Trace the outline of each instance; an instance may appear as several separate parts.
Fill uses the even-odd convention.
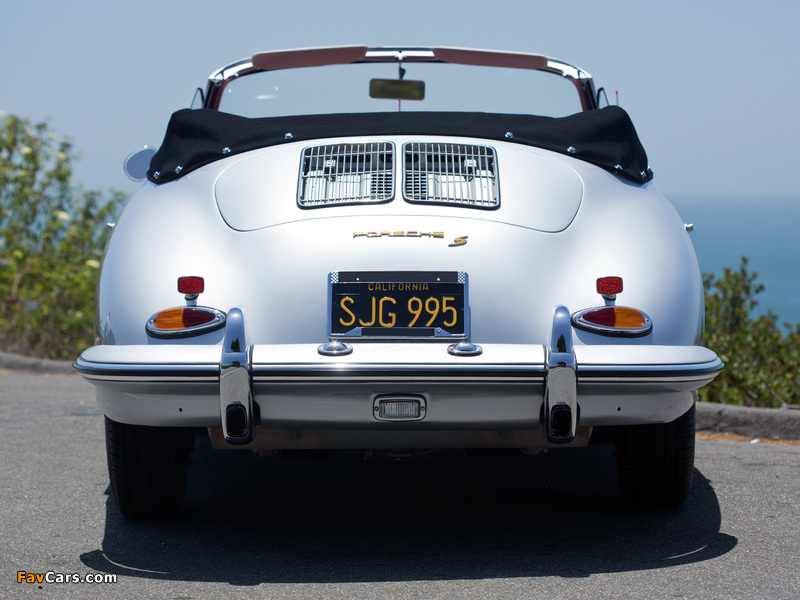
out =
[[[388,202],[394,197],[394,144],[332,144],[303,150],[297,202],[331,204]]]

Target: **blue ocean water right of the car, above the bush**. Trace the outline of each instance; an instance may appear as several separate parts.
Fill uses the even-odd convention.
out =
[[[771,310],[779,325],[800,323],[800,197],[670,200],[695,227],[691,240],[703,273],[738,269],[746,256],[764,286],[753,316]]]

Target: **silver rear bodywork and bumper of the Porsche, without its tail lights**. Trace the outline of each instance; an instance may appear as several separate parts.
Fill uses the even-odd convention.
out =
[[[129,239],[142,230],[163,242]],[[176,308],[189,276],[204,289],[186,310],[223,322],[154,335],[145,324]],[[625,282],[613,304],[596,289],[607,276]],[[645,335],[573,327],[571,315],[623,298],[651,321]],[[109,244],[99,308],[102,343],[79,367],[130,370],[127,384],[94,377],[106,413],[210,427],[218,445],[585,443],[592,426],[672,420],[719,368],[695,346],[696,261],[656,189],[474,138],[286,144],[149,185]],[[570,381],[553,400],[560,362]],[[239,370],[240,384],[220,383]],[[143,399],[162,383],[176,393]],[[570,423],[542,430],[562,401]]]

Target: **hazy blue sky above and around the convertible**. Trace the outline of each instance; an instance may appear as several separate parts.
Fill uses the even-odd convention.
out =
[[[676,198],[800,201],[800,3],[493,0],[7,2],[0,110],[49,119],[90,189],[228,62],[315,45],[451,45],[575,63],[631,114]]]

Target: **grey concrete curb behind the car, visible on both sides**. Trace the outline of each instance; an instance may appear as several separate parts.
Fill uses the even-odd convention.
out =
[[[73,375],[72,362],[0,352],[0,369]],[[711,402],[697,403],[697,431],[735,433],[751,438],[800,440],[800,410],[749,408]]]

